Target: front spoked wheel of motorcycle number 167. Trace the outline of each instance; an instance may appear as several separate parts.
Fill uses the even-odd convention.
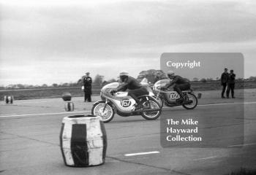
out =
[[[92,107],[91,114],[102,117],[102,121],[108,123],[113,119],[115,112],[109,104],[98,103]]]

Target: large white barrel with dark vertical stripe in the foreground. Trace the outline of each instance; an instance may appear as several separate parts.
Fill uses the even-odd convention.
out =
[[[99,166],[105,163],[107,135],[101,117],[64,117],[60,147],[66,166]]]

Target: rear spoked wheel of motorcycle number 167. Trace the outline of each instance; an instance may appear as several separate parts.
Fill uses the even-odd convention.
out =
[[[145,101],[143,103],[145,109],[161,109],[157,101]],[[161,114],[161,110],[153,111],[153,112],[141,112],[141,115],[146,120],[156,120]]]

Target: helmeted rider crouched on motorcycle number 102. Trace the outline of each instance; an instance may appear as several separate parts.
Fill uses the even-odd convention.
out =
[[[173,80],[170,81],[170,84],[165,85],[165,88],[169,88],[170,86],[175,84],[173,90],[175,90],[180,96],[180,98],[177,99],[177,101],[180,103],[184,102],[185,98],[181,90],[188,90],[190,88],[189,81],[181,76],[175,75],[174,71],[171,70],[167,72],[167,76]]]

